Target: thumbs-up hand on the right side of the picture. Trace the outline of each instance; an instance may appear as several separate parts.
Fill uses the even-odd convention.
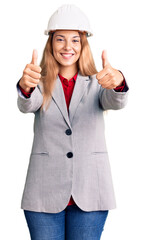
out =
[[[103,69],[96,75],[98,83],[106,89],[114,89],[121,86],[124,80],[123,75],[118,70],[112,68],[105,50],[102,52],[101,58]]]

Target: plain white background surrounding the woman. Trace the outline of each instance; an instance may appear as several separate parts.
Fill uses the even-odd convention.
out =
[[[47,41],[44,30],[49,17],[64,3],[76,4],[90,19],[94,36],[89,43],[97,69],[102,69],[101,53],[106,49],[111,65],[124,73],[130,86],[126,108],[109,111],[105,116],[117,209],[109,212],[102,239],[146,239],[144,0],[6,0],[1,3],[0,239],[29,240],[20,201],[34,116],[17,109],[16,83],[31,61],[34,48],[40,61]]]

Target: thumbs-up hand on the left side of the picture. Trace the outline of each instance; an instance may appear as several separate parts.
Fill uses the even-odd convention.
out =
[[[25,92],[30,92],[32,87],[36,87],[39,84],[41,68],[37,65],[37,58],[37,50],[33,50],[31,63],[26,65],[23,76],[20,79],[19,85]]]

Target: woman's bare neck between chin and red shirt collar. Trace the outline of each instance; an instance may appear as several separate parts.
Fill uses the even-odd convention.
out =
[[[77,73],[78,68],[75,66],[60,66],[59,73],[66,79],[71,79]]]

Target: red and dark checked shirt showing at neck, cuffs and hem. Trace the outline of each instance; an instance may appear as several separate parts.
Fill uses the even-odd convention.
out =
[[[64,90],[64,96],[65,96],[66,106],[67,106],[68,112],[69,112],[69,104],[70,104],[70,100],[71,100],[71,97],[72,97],[75,82],[76,82],[76,79],[77,79],[77,75],[78,75],[78,73],[76,73],[76,75],[68,81],[66,78],[64,78],[63,76],[61,76],[59,74],[59,78],[60,78],[60,81],[62,83],[62,87],[63,87],[63,90]],[[118,91],[118,92],[122,92],[122,91],[124,91],[125,87],[126,87],[126,83],[125,83],[125,79],[124,79],[122,86],[117,87],[114,90]],[[19,88],[26,98],[30,97],[31,93],[34,90],[34,88],[32,88],[30,93],[26,93],[20,86],[19,86]],[[73,205],[73,204],[75,204],[75,202],[74,202],[74,200],[71,196],[68,205]]]

